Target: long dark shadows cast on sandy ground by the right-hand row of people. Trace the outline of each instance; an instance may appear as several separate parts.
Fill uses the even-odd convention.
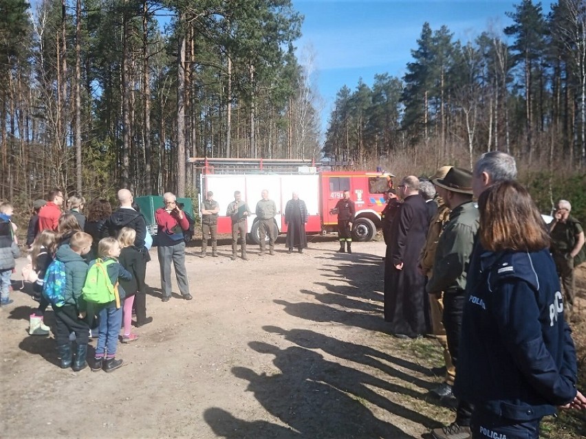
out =
[[[380,258],[360,254],[334,258],[337,263],[326,264],[323,269],[323,278],[332,278],[334,282],[319,279],[314,282],[316,291],[301,290],[311,301],[274,302],[301,319],[384,333]],[[324,289],[326,293],[318,292]],[[218,436],[414,438],[408,433],[413,424],[425,429],[439,427],[437,420],[424,414],[428,410],[420,409],[437,405],[428,396],[428,390],[437,385],[429,368],[315,330],[286,330],[278,326],[263,326],[263,330],[294,346],[280,348],[250,341],[248,346],[252,350],[274,356],[276,370],[257,372],[236,366],[232,374],[246,381],[246,390],[253,392],[257,401],[279,421],[249,422],[212,407],[204,412],[204,419]]]

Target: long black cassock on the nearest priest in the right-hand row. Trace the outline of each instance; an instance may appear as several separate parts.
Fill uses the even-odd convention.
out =
[[[391,223],[384,260],[384,320],[393,334],[426,333],[424,276],[417,260],[427,234],[427,207],[420,195],[406,197]],[[395,265],[403,262],[402,270]]]

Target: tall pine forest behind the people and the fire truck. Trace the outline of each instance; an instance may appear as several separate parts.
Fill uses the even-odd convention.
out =
[[[188,157],[351,161],[396,175],[517,157],[586,221],[586,1],[511,5],[459,41],[422,26],[402,78],[338,91],[327,132],[290,0],[0,2],[0,197],[195,196]]]

